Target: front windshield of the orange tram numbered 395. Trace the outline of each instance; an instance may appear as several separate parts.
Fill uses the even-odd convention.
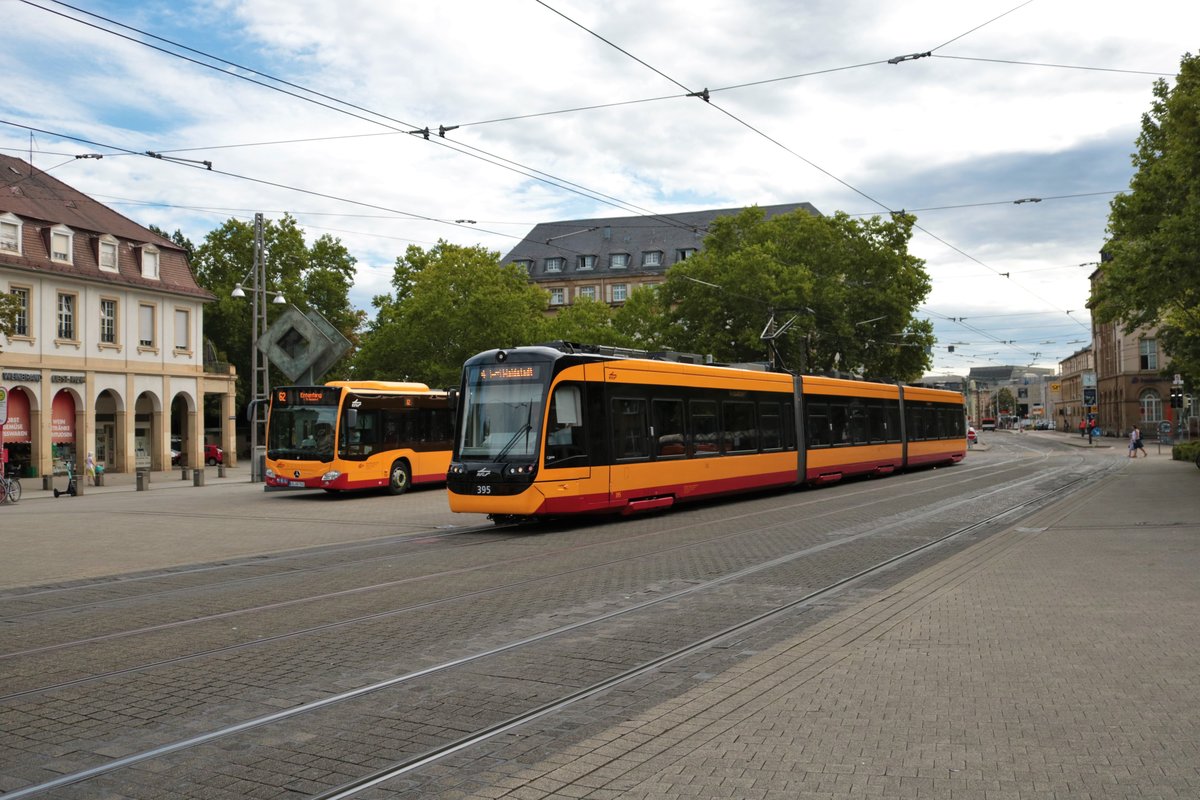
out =
[[[520,462],[536,457],[546,397],[542,372],[538,363],[467,368],[460,458]]]

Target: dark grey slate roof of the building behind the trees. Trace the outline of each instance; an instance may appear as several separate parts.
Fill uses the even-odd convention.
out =
[[[820,216],[811,203],[785,203],[781,205],[758,206],[767,217],[774,217],[792,211],[804,210]],[[589,275],[608,272],[610,255],[628,253],[629,266],[619,270],[622,275],[646,272],[661,273],[676,260],[679,251],[700,249],[708,227],[718,217],[740,213],[744,209],[709,209],[706,211],[683,211],[644,217],[594,217],[590,219],[562,219],[541,222],[534,225],[524,240],[504,257],[505,264],[511,261],[532,261],[534,269],[529,276],[534,279],[563,279],[574,272],[576,257],[595,255],[596,263]],[[647,252],[664,254],[660,266],[642,267],[641,254]],[[566,275],[542,271],[545,259],[564,258]]]

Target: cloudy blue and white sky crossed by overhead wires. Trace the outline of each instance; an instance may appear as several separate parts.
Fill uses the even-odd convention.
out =
[[[196,243],[290,213],[355,257],[365,311],[409,245],[905,210],[931,373],[964,374],[1091,342],[1109,204],[1200,2],[0,0],[0,151]]]

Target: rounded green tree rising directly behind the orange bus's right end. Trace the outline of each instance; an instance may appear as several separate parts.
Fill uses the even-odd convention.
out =
[[[412,245],[396,259],[392,289],[372,301],[356,377],[456,386],[476,353],[546,338],[546,293],[479,246]]]

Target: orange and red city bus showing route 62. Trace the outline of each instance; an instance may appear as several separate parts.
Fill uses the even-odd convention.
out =
[[[454,440],[451,392],[425,384],[331,380],[271,391],[268,487],[326,492],[444,482]]]

